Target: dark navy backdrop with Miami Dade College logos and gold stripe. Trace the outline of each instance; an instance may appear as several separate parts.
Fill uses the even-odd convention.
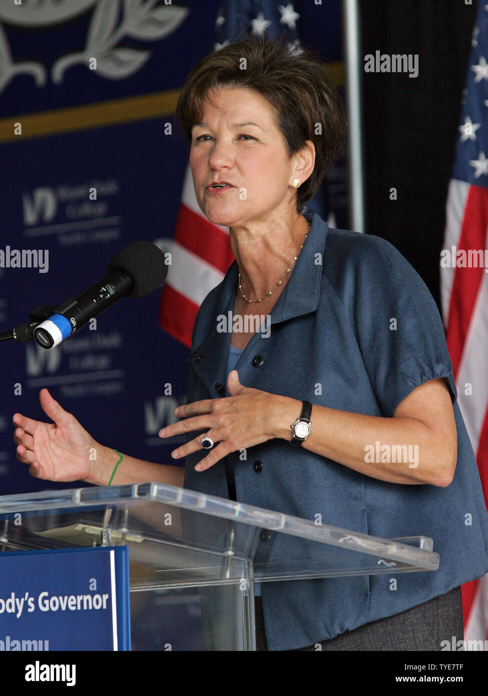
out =
[[[173,237],[187,144],[171,105],[212,49],[220,3],[166,3],[0,0],[0,249],[49,254],[47,272],[0,268],[0,333],[81,294],[129,242]],[[301,40],[331,61],[339,5],[293,3]],[[338,226],[344,212],[338,198]],[[29,476],[13,443],[13,413],[47,420],[45,386],[97,441],[173,463],[157,432],[185,401],[189,350],[159,328],[159,296],[123,299],[53,351],[0,343],[0,494],[56,487]]]

